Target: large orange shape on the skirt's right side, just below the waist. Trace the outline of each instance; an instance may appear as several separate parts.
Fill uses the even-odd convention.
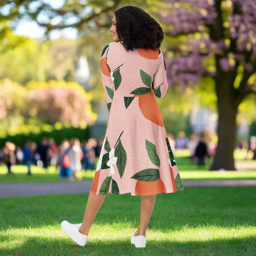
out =
[[[153,93],[134,95],[139,98],[139,108],[147,120],[164,127],[162,114]]]

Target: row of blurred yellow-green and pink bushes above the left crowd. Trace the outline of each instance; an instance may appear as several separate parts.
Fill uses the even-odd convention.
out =
[[[92,95],[75,82],[31,81],[24,87],[4,79],[0,87],[0,137],[38,134],[63,125],[85,128],[97,118]]]

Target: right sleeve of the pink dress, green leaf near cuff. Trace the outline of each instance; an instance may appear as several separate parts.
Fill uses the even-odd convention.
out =
[[[159,50],[158,56],[158,70],[153,79],[153,91],[157,98],[163,98],[168,90],[168,83],[166,78],[166,66],[163,53]]]

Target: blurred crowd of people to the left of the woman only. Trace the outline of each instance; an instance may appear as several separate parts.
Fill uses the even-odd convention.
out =
[[[80,140],[63,139],[61,145],[57,146],[52,138],[42,138],[37,145],[27,140],[24,147],[6,142],[0,149],[0,162],[8,169],[7,174],[13,174],[12,165],[20,164],[27,166],[27,175],[32,175],[31,165],[37,165],[48,170],[49,165],[55,166],[62,178],[70,180],[81,179],[77,175],[82,169],[95,170],[96,158],[99,157],[103,139],[90,138],[80,143]]]

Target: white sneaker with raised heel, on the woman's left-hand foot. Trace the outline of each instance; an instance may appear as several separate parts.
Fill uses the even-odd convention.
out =
[[[80,223],[80,224],[71,224],[67,220],[64,220],[64,221],[61,222],[62,230],[70,238],[72,238],[76,244],[79,244],[81,246],[85,246],[86,241],[88,239],[88,236],[79,232],[79,229],[80,229],[81,226],[82,226],[82,223]]]

